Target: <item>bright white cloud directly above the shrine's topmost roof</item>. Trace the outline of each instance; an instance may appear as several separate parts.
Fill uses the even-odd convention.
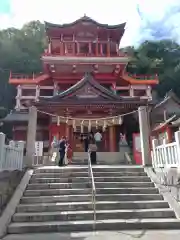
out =
[[[139,26],[137,0],[11,0],[11,14],[0,16],[0,28],[22,27],[31,20],[72,22],[84,14],[101,23],[127,21],[122,44],[134,41]]]

